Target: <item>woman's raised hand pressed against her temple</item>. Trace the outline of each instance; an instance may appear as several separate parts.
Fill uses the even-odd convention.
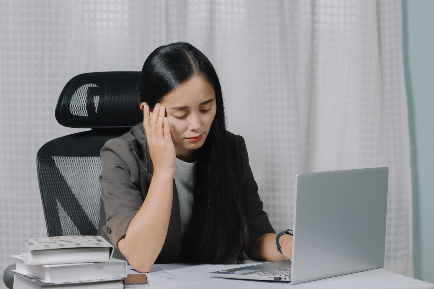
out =
[[[154,166],[154,174],[171,174],[176,171],[175,147],[170,134],[169,120],[165,117],[165,107],[157,103],[149,112],[148,104],[143,106],[143,128],[148,139],[149,154]]]

